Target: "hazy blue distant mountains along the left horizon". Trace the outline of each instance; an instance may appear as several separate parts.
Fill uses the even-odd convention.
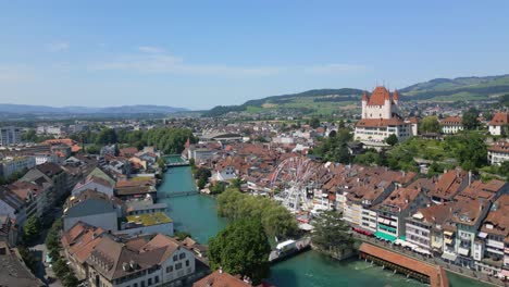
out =
[[[184,108],[173,108],[166,105],[121,105],[105,108],[90,107],[48,107],[30,104],[0,103],[1,113],[11,114],[148,114],[148,113],[176,113],[188,111]]]

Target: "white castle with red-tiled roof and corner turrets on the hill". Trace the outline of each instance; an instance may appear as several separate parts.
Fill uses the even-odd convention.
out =
[[[417,121],[404,121],[399,115],[399,95],[393,96],[385,87],[376,87],[371,97],[364,91],[362,96],[361,120],[356,124],[355,139],[365,146],[382,147],[384,140],[396,135],[405,140],[417,134]]]

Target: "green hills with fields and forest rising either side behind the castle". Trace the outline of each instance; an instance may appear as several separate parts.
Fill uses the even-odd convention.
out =
[[[400,89],[402,101],[479,101],[509,93],[509,74],[486,77],[435,78]],[[220,116],[228,112],[260,112],[263,110],[296,110],[303,113],[327,114],[337,107],[358,104],[363,90],[314,89],[299,93],[271,96],[250,100],[239,105],[218,105],[203,112],[206,116]]]

